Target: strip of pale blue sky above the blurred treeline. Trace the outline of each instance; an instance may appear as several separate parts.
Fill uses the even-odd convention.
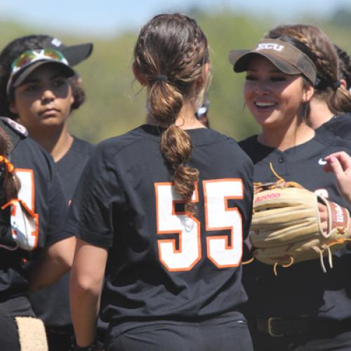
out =
[[[0,0],[0,20],[99,36],[140,27],[156,13],[186,11],[192,6],[207,11],[230,6],[287,20],[303,13],[323,17],[341,6],[351,9],[351,0]]]

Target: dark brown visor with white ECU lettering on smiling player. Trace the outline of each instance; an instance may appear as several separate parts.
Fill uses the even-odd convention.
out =
[[[313,85],[317,68],[312,60],[295,46],[278,39],[263,39],[251,50],[232,50],[229,53],[234,72],[244,72],[254,55],[262,55],[286,74],[303,74]]]

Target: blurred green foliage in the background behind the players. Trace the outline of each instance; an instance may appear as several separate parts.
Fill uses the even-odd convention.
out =
[[[263,37],[272,25],[270,19],[247,18],[232,10],[217,13],[192,14],[208,37],[212,53],[213,79],[209,89],[211,127],[237,140],[258,132],[253,117],[244,108],[242,86],[244,74],[235,74],[228,61],[232,48],[250,48]],[[300,21],[296,21],[300,22]],[[302,22],[302,21],[301,21]],[[306,22],[306,21],[305,21]],[[308,20],[315,22],[315,20]],[[143,124],[146,117],[145,91],[134,81],[131,65],[137,31],[124,32],[108,39],[74,37],[46,32],[46,29],[23,28],[2,22],[0,41],[8,41],[26,34],[45,32],[57,36],[65,44],[93,41],[91,58],[76,68],[83,79],[87,100],[70,117],[69,128],[74,135],[93,143],[124,133]],[[351,53],[349,30],[335,21],[317,22],[333,41]]]

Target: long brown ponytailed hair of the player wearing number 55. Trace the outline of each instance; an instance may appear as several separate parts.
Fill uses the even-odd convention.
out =
[[[201,77],[209,61],[207,39],[201,28],[195,20],[179,13],[152,18],[141,29],[134,48],[133,67],[147,86],[148,113],[157,123],[168,126],[161,135],[161,153],[189,213],[196,211],[191,200],[199,171],[187,166],[192,143],[188,133],[175,122],[185,101],[196,105],[202,100],[207,82]]]

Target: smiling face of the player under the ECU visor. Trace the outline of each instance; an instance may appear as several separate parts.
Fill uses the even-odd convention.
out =
[[[257,55],[247,65],[244,99],[262,128],[289,128],[303,116],[304,102],[313,88],[300,74],[286,74],[270,60]]]

